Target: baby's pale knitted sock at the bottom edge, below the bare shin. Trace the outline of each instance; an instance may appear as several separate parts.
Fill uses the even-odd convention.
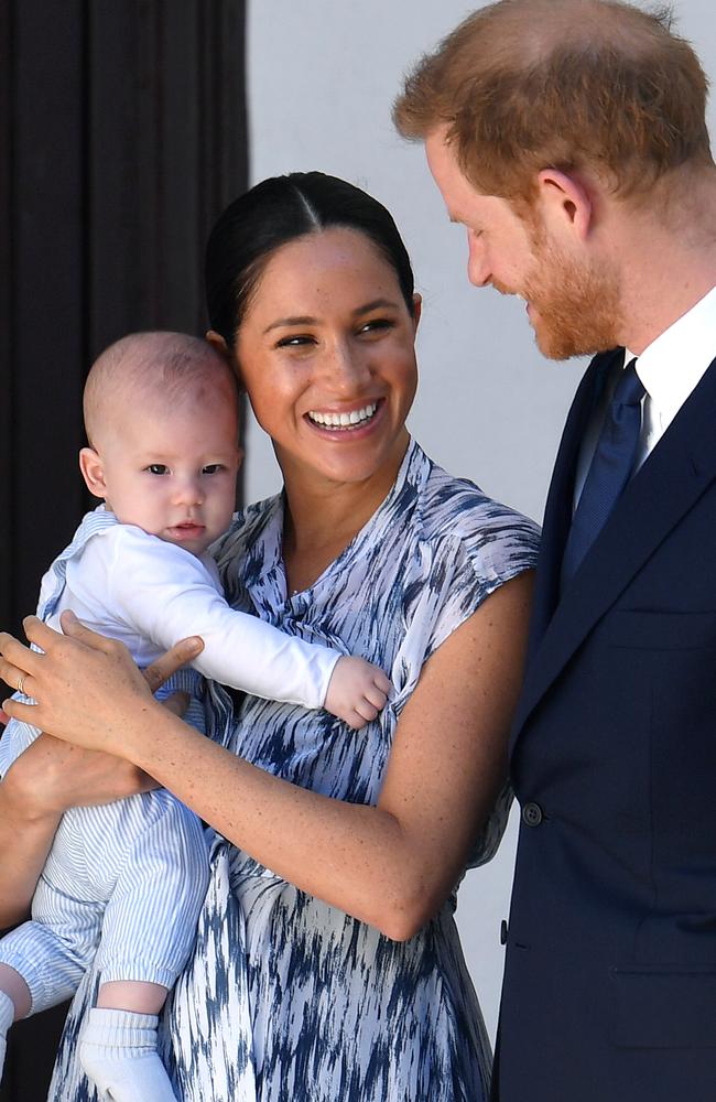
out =
[[[176,1102],[156,1051],[155,1014],[95,1007],[79,1045],[79,1062],[101,1099]]]

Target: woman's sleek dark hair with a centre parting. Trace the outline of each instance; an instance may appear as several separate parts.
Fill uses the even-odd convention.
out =
[[[229,347],[269,260],[281,246],[332,226],[367,237],[394,270],[413,314],[413,270],[382,203],[323,172],[272,176],[230,203],[206,246],[206,300],[211,328]]]

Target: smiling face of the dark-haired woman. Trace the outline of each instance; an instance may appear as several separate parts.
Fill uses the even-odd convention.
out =
[[[394,473],[415,395],[416,300],[362,234],[282,246],[236,339],[241,381],[284,477],[357,483]]]

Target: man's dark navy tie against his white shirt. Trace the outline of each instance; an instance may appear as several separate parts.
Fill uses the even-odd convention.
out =
[[[646,393],[636,363],[630,360],[621,372],[572,518],[562,560],[563,588],[576,573],[631,476],[641,432],[641,399]]]

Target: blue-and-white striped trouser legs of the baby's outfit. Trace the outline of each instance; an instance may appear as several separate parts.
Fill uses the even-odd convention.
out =
[[[12,721],[2,756],[35,736]],[[102,983],[171,987],[192,950],[207,883],[202,823],[165,789],[73,808],[59,822],[32,919],[0,940],[0,962],[28,983],[31,1014],[69,998],[95,954]]]

